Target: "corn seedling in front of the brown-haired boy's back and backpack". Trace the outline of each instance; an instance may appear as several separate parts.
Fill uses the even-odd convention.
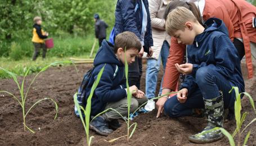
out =
[[[95,80],[95,82],[92,85],[92,89],[91,89],[91,93],[89,94],[89,97],[87,99],[87,104],[86,104],[86,109],[83,108],[83,106],[80,106],[78,101],[77,101],[77,93],[75,93],[74,95],[74,103],[75,103],[75,107],[77,107],[78,113],[79,113],[79,117],[82,121],[82,124],[84,126],[84,130],[86,131],[86,138],[87,138],[87,145],[91,145],[92,142],[92,138],[94,138],[94,136],[89,137],[89,120],[90,120],[90,115],[91,115],[91,100],[92,100],[92,95],[95,91],[95,89],[97,88],[97,85],[101,79],[101,75],[104,71],[104,67],[102,67],[102,69],[100,70],[100,72],[98,73],[97,79]],[[83,114],[81,112],[81,109],[85,115],[85,121],[84,122],[84,118],[83,118]]]

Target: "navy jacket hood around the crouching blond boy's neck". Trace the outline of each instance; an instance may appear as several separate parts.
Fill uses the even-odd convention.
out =
[[[194,45],[199,47],[200,42],[202,42],[212,31],[219,31],[228,36],[228,30],[224,22],[217,18],[210,18],[204,23],[205,30],[203,33],[197,35],[194,40]]]

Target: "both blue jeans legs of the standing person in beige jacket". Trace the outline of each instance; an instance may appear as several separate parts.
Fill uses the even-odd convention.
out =
[[[160,64],[163,63],[164,70],[169,56],[169,44],[166,40],[161,48],[159,59],[155,60],[152,58],[147,59],[147,70],[146,70],[146,97],[151,99],[155,97],[156,84],[158,83],[158,72],[160,70]],[[162,79],[163,80],[163,79]],[[161,94],[161,87],[159,94]]]

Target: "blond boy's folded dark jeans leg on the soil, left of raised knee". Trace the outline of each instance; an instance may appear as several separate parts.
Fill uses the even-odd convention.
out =
[[[170,117],[191,116],[193,108],[204,108],[203,95],[199,88],[188,95],[185,103],[179,103],[177,95],[164,103],[164,112]]]

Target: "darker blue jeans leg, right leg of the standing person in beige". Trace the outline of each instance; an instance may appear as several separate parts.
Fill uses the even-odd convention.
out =
[[[166,66],[166,63],[167,63],[167,58],[169,56],[169,49],[170,49],[169,43],[167,42],[167,40],[164,40],[164,43],[162,45],[161,52],[160,52],[160,57],[159,57],[159,60],[161,60],[162,63],[163,63],[164,71],[165,71],[165,66]],[[159,64],[159,66],[160,66],[160,64]],[[164,73],[163,73],[163,77],[162,77],[162,80],[161,80],[159,95],[161,95],[161,93],[162,93],[163,79],[164,79]]]

